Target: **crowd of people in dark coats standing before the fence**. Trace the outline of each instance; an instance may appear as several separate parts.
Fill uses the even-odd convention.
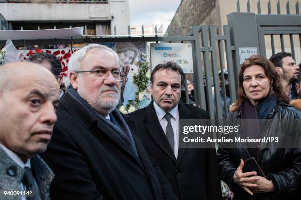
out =
[[[120,83],[135,52],[86,45],[69,60],[66,91],[55,55],[0,66],[0,199],[222,200],[220,180],[235,200],[301,199],[301,147],[179,147],[179,121],[209,114],[181,100],[186,80],[176,63],[152,70],[147,107],[120,113],[130,82]],[[300,71],[289,53],[246,59],[238,100],[223,104],[227,123],[241,125],[245,137],[281,130],[300,142]],[[187,90],[192,99],[192,83]],[[249,159],[262,174],[244,170]]]

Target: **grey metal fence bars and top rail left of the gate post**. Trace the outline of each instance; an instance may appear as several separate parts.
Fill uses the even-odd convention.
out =
[[[86,28],[85,28],[86,30]],[[128,28],[130,33],[130,27]],[[86,32],[86,31],[85,31]],[[215,33],[215,27],[213,25],[209,26],[197,26],[193,25],[192,32],[187,36],[160,36],[157,34],[155,28],[155,34],[152,36],[144,35],[144,29],[142,26],[141,36],[124,35],[117,36],[116,28],[114,28],[113,36],[85,36],[82,38],[70,38],[70,39],[44,39],[44,40],[14,40],[15,46],[26,46],[26,45],[49,45],[49,44],[87,44],[87,43],[108,43],[108,42],[186,42],[191,43],[193,47],[194,55],[194,74],[193,80],[195,84],[195,101],[197,105],[200,105],[203,109],[208,109],[210,117],[214,118],[214,107],[217,109],[217,117],[222,118],[221,106],[219,104],[221,100],[219,92],[219,77],[218,77],[218,65],[221,66],[223,70],[225,68],[224,59],[222,56],[222,42],[224,42],[226,54],[227,54],[227,66],[232,66],[232,51],[234,47],[231,46],[230,33],[228,26],[224,26],[225,34],[221,34],[220,28],[217,28],[217,34]],[[210,38],[210,44],[207,41],[207,37]],[[201,39],[200,39],[201,38]],[[215,46],[215,41],[218,42],[218,47]],[[199,43],[203,45],[200,47]],[[5,41],[0,41],[0,46],[3,46]],[[201,56],[202,53],[202,56]],[[219,61],[217,62],[217,55],[219,55]],[[205,98],[205,88],[203,82],[203,66],[205,70],[205,80],[207,82]],[[213,105],[212,100],[212,89],[211,89],[211,69],[213,72],[213,85],[215,87],[216,94],[216,104]],[[234,84],[234,74],[233,70],[228,67],[229,79],[231,80],[230,85],[230,95],[233,101],[235,101],[235,84]],[[223,77],[224,78],[224,77]],[[187,95],[187,94],[186,94]],[[224,98],[224,97],[223,97]],[[207,101],[205,100],[207,99]],[[206,105],[207,104],[207,105]],[[227,113],[227,111],[226,111]]]

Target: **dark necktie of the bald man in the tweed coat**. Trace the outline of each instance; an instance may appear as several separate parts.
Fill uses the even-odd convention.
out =
[[[23,183],[23,185],[25,185],[26,190],[33,191],[33,195],[34,195],[34,197],[27,197],[26,199],[27,200],[40,200],[39,191],[38,191],[36,185],[34,184],[31,169],[29,167],[24,167],[24,170],[25,170],[25,172],[23,175],[22,183]]]

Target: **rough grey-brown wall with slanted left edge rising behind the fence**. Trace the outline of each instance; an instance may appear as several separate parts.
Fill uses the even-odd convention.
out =
[[[170,23],[171,34],[180,35],[180,27],[186,35],[192,25],[220,25],[218,0],[182,0]]]

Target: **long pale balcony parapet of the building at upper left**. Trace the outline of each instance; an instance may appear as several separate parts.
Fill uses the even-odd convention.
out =
[[[110,20],[109,4],[0,3],[7,21]]]

